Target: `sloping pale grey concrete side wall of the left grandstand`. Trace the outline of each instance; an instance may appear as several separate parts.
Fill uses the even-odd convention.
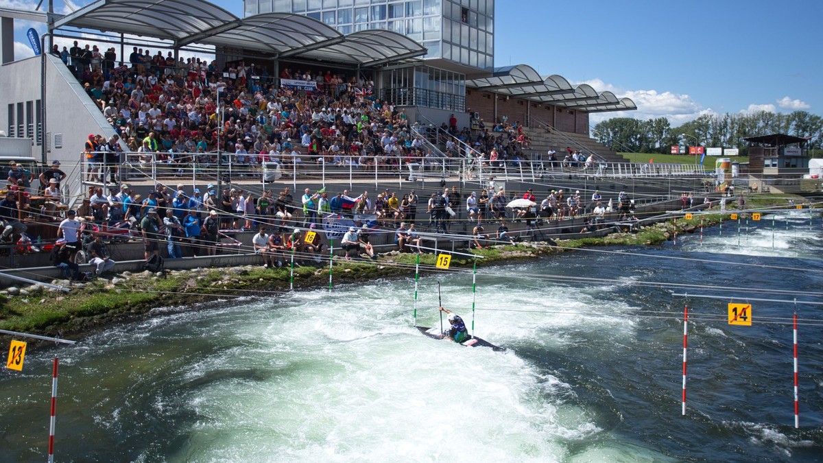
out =
[[[114,128],[103,117],[100,108],[86,95],[80,83],[68,71],[63,61],[46,54],[46,133],[49,134],[46,164],[57,159],[69,175],[68,194],[80,192],[77,164],[89,133],[106,138],[114,135]],[[0,130],[8,128],[10,104],[40,100],[40,57],[32,57],[3,64],[0,67]],[[36,120],[36,118],[33,118]],[[58,146],[55,140],[62,138]],[[42,160],[41,147],[32,147],[32,156]],[[75,175],[72,175],[72,170]],[[65,187],[64,187],[65,188]]]

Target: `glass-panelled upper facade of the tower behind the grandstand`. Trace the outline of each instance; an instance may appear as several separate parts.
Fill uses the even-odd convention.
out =
[[[244,0],[246,16],[292,12],[323,21],[342,34],[387,29],[443,59],[491,71],[495,49],[495,0]]]

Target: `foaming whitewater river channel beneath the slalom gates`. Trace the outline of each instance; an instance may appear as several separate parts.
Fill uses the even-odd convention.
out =
[[[741,246],[727,223],[482,269],[475,331],[504,353],[419,334],[413,278],[158,310],[3,370],[0,461],[45,460],[55,353],[57,461],[823,461],[821,307],[797,306],[794,429],[794,306],[732,326],[732,299],[673,295],[821,302],[820,218],[778,218]],[[421,278],[418,324],[439,325],[438,280],[470,325],[471,274]]]

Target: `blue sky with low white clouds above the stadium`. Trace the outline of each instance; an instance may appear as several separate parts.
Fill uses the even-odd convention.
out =
[[[55,9],[89,2],[55,0]],[[214,2],[243,16],[242,0]],[[0,7],[36,3],[0,0]],[[628,96],[639,110],[625,115],[639,119],[679,124],[751,110],[820,115],[821,18],[823,2],[811,0],[497,0],[495,65],[529,64],[542,75]],[[18,58],[31,54],[29,26],[17,25]]]

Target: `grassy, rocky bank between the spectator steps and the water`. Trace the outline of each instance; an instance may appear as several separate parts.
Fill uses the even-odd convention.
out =
[[[785,201],[785,197],[772,199],[771,203],[763,199],[758,206],[783,206]],[[477,260],[478,266],[488,266],[570,252],[587,246],[654,246],[672,239],[676,231],[678,235],[699,232],[701,222],[703,227],[713,227],[721,220],[728,221],[729,212],[733,211],[728,211],[726,215],[695,214],[690,220],[679,217],[601,238],[558,240],[553,246],[523,243],[486,247],[472,252],[483,258]],[[421,270],[434,270],[436,259],[435,255],[421,255]],[[471,269],[474,261],[471,257],[455,255],[450,269]],[[376,262],[335,258],[334,284],[410,275],[414,272],[415,263],[416,255],[397,252],[382,255]],[[124,272],[110,280],[100,279],[77,286],[70,293],[32,286],[21,288],[20,293],[13,297],[0,296],[0,329],[78,339],[110,325],[146,316],[151,309],[160,306],[192,306],[198,302],[231,297],[277,297],[289,291],[289,282],[288,269],[244,266],[167,271],[164,274]],[[294,286],[297,289],[328,287],[328,261],[318,266],[295,268]]]

